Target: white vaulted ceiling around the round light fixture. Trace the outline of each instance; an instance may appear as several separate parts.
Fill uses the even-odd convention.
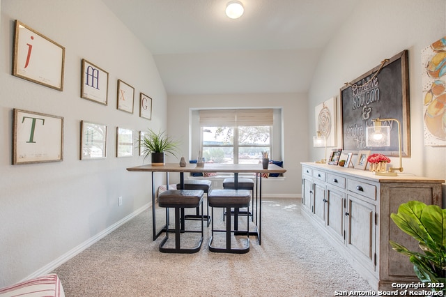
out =
[[[102,0],[153,54],[170,94],[307,92],[357,0]]]

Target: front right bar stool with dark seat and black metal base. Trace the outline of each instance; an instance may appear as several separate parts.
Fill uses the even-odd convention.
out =
[[[247,190],[212,190],[208,195],[208,203],[211,208],[212,216],[214,215],[214,207],[221,208],[234,208],[234,224],[238,220],[238,208],[249,207],[249,201],[251,200],[251,195]],[[231,234],[236,230],[231,229],[231,211],[226,211],[226,230],[215,230],[214,220],[212,221],[212,231],[209,240],[209,250],[210,252],[229,252],[232,254],[245,254],[249,252],[249,218],[247,221],[247,243],[245,248],[231,248]],[[219,248],[213,246],[214,232],[226,232],[226,248]]]

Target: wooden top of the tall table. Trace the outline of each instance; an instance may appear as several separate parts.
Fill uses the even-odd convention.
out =
[[[127,168],[129,172],[229,172],[229,173],[284,173],[286,169],[269,164],[263,169],[261,164],[213,164],[205,163],[204,167],[196,164],[187,164],[180,167],[179,163],[166,163],[163,166],[141,165]]]

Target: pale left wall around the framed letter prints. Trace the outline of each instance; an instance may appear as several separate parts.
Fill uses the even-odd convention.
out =
[[[63,91],[10,75],[14,20],[66,48]],[[152,55],[99,0],[2,0],[0,31],[0,287],[32,275],[147,206],[150,176],[116,158],[116,127],[165,129],[167,95]],[[81,59],[109,73],[109,104],[79,97]],[[134,114],[116,109],[116,80],[134,86]],[[139,118],[139,92],[153,98]],[[63,162],[11,165],[13,108],[63,116]],[[107,159],[79,160],[80,121],[108,127]],[[123,206],[118,207],[118,196]]]

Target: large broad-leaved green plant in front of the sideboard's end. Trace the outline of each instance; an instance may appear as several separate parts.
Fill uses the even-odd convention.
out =
[[[417,241],[420,251],[410,251],[390,241],[392,248],[409,257],[417,277],[432,291],[446,291],[446,209],[420,201],[401,204],[390,215],[399,229]],[[443,284],[443,287],[442,287]]]

